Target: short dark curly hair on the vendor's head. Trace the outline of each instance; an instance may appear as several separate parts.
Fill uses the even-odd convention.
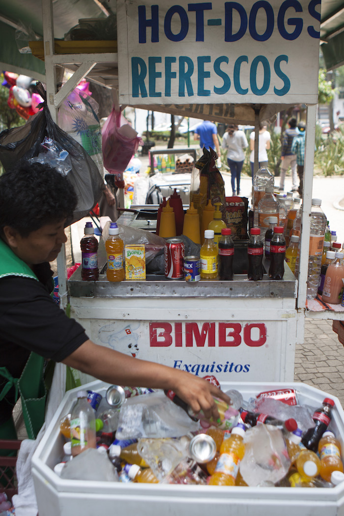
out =
[[[0,176],[0,232],[9,225],[22,237],[45,224],[71,220],[77,204],[75,190],[55,168],[21,162]]]

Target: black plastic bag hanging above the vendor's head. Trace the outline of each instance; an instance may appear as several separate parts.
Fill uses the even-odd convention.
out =
[[[37,93],[46,99],[41,83],[36,86]],[[51,138],[69,153],[72,169],[67,178],[74,186],[78,203],[69,224],[85,217],[96,205],[105,188],[102,175],[92,158],[81,145],[53,121],[50,111],[43,103],[43,110],[21,127],[3,131],[0,134],[0,161],[4,169],[10,170],[19,160],[37,157],[45,136]]]

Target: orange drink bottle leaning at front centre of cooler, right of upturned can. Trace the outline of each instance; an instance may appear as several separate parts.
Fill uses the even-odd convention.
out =
[[[223,441],[215,472],[208,479],[210,486],[235,486],[239,464],[245,454],[244,435],[245,427],[239,423],[233,428],[231,437]]]

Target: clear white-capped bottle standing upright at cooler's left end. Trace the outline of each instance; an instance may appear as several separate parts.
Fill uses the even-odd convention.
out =
[[[71,411],[71,446],[73,457],[96,447],[95,413],[87,401],[87,391],[77,393],[77,401]]]

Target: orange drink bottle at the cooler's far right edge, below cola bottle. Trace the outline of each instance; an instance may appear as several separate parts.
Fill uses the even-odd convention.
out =
[[[335,434],[326,430],[318,444],[320,454],[320,476],[327,482],[331,482],[333,471],[343,473],[341,460],[341,446]]]

